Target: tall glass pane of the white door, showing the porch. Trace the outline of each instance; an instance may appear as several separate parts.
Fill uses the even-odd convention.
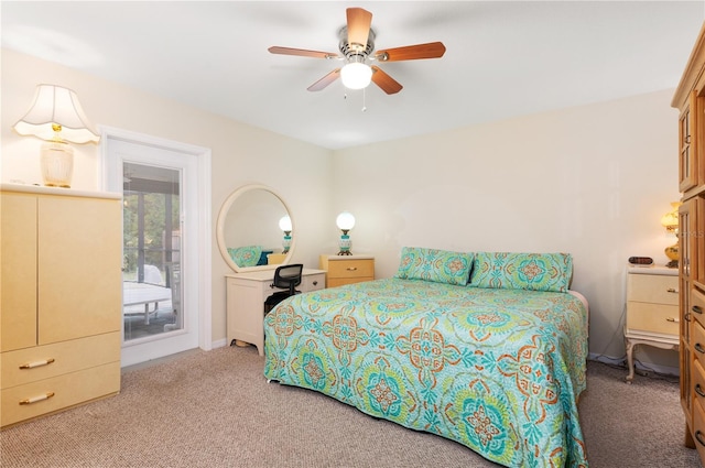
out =
[[[183,329],[181,171],[123,162],[123,340]]]

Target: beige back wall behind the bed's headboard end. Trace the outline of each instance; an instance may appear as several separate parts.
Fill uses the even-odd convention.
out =
[[[354,252],[392,275],[403,246],[562,251],[590,303],[590,352],[621,357],[625,265],[668,261],[660,226],[677,192],[677,111],[665,90],[338,151],[336,207]],[[361,183],[365,181],[365,184]],[[640,351],[677,368],[675,352]]]

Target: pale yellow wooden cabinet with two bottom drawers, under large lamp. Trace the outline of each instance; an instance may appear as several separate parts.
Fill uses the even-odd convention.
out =
[[[0,426],[120,390],[119,194],[0,192]]]

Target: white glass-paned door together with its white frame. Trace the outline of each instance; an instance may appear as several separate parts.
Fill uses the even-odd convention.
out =
[[[121,366],[210,349],[209,151],[104,137],[105,186],[123,196]]]

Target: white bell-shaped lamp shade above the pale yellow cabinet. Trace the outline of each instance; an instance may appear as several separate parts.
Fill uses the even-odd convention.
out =
[[[76,92],[56,85],[37,85],[32,107],[14,124],[14,130],[21,135],[47,141],[58,138],[72,143],[97,143],[100,140]]]

